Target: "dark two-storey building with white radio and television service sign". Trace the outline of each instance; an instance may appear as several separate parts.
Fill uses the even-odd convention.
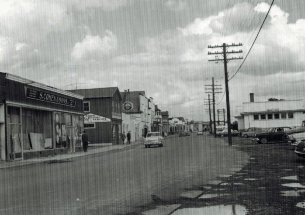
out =
[[[89,141],[94,144],[120,144],[122,134],[122,97],[119,88],[107,87],[69,91],[84,96],[84,113],[85,118],[88,119],[84,127]]]

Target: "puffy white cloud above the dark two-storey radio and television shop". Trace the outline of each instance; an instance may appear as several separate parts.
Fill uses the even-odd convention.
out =
[[[106,30],[105,35],[87,35],[82,42],[75,43],[71,52],[74,60],[90,60],[102,57],[115,51],[118,46],[116,35]]]

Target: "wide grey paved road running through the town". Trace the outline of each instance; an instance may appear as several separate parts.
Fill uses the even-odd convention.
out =
[[[219,139],[192,134],[168,138],[160,148],[138,145],[71,162],[3,169],[0,214],[141,212],[153,199],[177,198],[187,188],[230,173],[244,158]]]

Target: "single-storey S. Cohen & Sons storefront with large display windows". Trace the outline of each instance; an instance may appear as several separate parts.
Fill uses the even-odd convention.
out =
[[[0,73],[0,155],[15,161],[81,148],[83,97]]]

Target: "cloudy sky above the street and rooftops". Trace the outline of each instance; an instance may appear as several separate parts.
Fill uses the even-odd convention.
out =
[[[0,71],[62,89],[145,90],[171,116],[207,120],[204,85],[223,84],[208,45],[245,56],[272,0],[0,0]],[[229,78],[241,60],[228,64]],[[305,1],[275,0],[239,73],[232,114],[249,101],[305,99]],[[224,91],[224,90],[223,90]],[[223,94],[216,108],[225,108]],[[221,101],[221,102],[220,102]]]

